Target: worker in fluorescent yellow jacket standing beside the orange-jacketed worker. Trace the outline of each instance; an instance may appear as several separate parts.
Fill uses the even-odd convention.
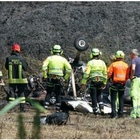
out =
[[[90,97],[92,100],[93,113],[95,115],[104,113],[102,89],[107,83],[107,66],[103,60],[99,58],[101,52],[98,48],[91,50],[90,58],[85,68],[82,77],[82,89],[84,90],[86,84],[90,84]],[[98,107],[99,106],[99,107]]]

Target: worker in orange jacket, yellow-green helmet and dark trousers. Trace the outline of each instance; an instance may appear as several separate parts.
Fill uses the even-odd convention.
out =
[[[116,99],[118,93],[119,109],[118,117],[123,117],[124,109],[124,89],[125,82],[129,78],[128,64],[123,61],[124,52],[118,50],[115,53],[116,61],[108,68],[108,78],[112,80],[112,86],[109,88],[111,94],[111,118],[116,118]]]

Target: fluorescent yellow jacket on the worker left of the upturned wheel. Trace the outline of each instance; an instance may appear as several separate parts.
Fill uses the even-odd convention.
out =
[[[64,75],[64,70],[66,74]],[[71,65],[69,62],[60,55],[49,56],[42,65],[43,77],[47,78],[48,75],[54,74],[60,77],[64,76],[64,79],[68,79],[71,74]]]

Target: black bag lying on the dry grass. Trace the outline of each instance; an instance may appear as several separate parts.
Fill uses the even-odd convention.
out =
[[[45,124],[66,125],[69,119],[68,112],[55,112],[46,116]]]

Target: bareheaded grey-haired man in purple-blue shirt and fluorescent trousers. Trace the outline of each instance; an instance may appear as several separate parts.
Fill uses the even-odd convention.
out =
[[[140,117],[140,57],[137,49],[132,49],[130,52],[131,67],[130,67],[130,97],[132,99],[132,110],[130,118]]]

